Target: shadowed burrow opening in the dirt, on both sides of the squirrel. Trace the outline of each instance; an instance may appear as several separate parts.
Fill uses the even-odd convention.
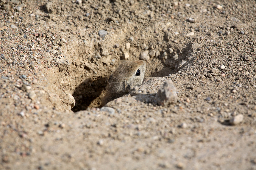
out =
[[[193,61],[190,57],[192,52],[191,44],[187,44],[182,50],[176,50],[173,53],[169,53],[168,50],[165,52],[167,53],[167,59],[164,58],[164,52],[162,52],[159,56],[151,58],[151,60],[147,62],[147,76],[163,77],[168,76],[168,74],[175,74]],[[131,58],[131,61],[135,60],[136,58]],[[99,70],[96,70],[96,72],[98,75],[102,74]],[[103,72],[106,71],[103,70]],[[101,99],[104,96],[105,81],[110,74],[111,72],[108,72],[106,76],[85,78],[75,88],[72,94],[76,101],[72,111],[77,112],[86,110],[87,108],[99,107]]]

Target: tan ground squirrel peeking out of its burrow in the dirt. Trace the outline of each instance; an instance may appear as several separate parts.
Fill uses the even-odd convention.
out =
[[[101,106],[128,94],[134,87],[141,85],[145,71],[145,61],[124,61],[121,63],[106,80],[105,87],[107,91],[102,99]]]

